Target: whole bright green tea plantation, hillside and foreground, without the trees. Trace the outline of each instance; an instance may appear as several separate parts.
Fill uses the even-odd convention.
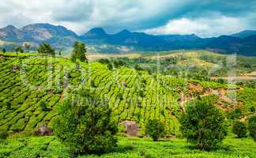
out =
[[[54,136],[19,134],[31,135],[40,125],[51,128],[59,105],[77,89],[87,89],[107,100],[117,124],[137,122],[141,137],[145,136],[149,119],[155,118],[164,123],[166,136],[180,137],[179,115],[186,102],[198,96],[217,100],[216,107],[226,115],[239,107],[239,119],[254,115],[256,108],[254,88],[149,74],[126,66],[109,69],[107,64],[96,61],[77,64],[69,58],[36,54],[1,55],[0,130],[9,131],[11,136],[2,142],[0,157],[72,157]],[[224,147],[213,152],[190,149],[183,139],[153,143],[149,139],[120,137],[119,147],[104,157],[255,157],[254,149],[256,144],[250,137],[240,140],[232,134]]]

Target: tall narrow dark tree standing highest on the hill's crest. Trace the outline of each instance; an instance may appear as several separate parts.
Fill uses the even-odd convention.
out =
[[[71,60],[77,62],[77,59],[79,59],[81,62],[88,62],[88,59],[85,56],[86,51],[85,43],[75,42],[73,44]]]

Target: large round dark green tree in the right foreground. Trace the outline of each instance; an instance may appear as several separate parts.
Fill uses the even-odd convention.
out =
[[[180,130],[187,141],[199,149],[213,149],[228,134],[224,120],[213,100],[203,97],[187,105],[186,113],[179,118]]]

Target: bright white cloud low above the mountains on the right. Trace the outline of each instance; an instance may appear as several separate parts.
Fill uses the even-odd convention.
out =
[[[248,28],[245,19],[216,16],[212,18],[189,19],[186,17],[168,21],[168,24],[147,29],[152,34],[191,34],[201,37],[228,35]]]

